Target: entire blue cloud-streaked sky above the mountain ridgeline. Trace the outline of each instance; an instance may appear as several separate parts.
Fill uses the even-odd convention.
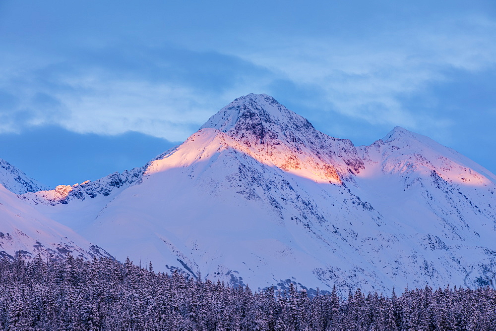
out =
[[[0,1],[0,158],[48,185],[145,164],[266,93],[335,137],[395,125],[496,172],[494,1]]]

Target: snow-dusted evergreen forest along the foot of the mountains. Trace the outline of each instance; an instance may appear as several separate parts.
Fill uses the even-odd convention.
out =
[[[251,291],[112,259],[0,260],[3,330],[494,330],[496,291]]]

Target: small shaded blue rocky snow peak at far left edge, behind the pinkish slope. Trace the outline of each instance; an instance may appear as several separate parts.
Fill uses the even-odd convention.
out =
[[[0,184],[15,194],[48,190],[47,186],[29,178],[3,159],[0,159]]]

